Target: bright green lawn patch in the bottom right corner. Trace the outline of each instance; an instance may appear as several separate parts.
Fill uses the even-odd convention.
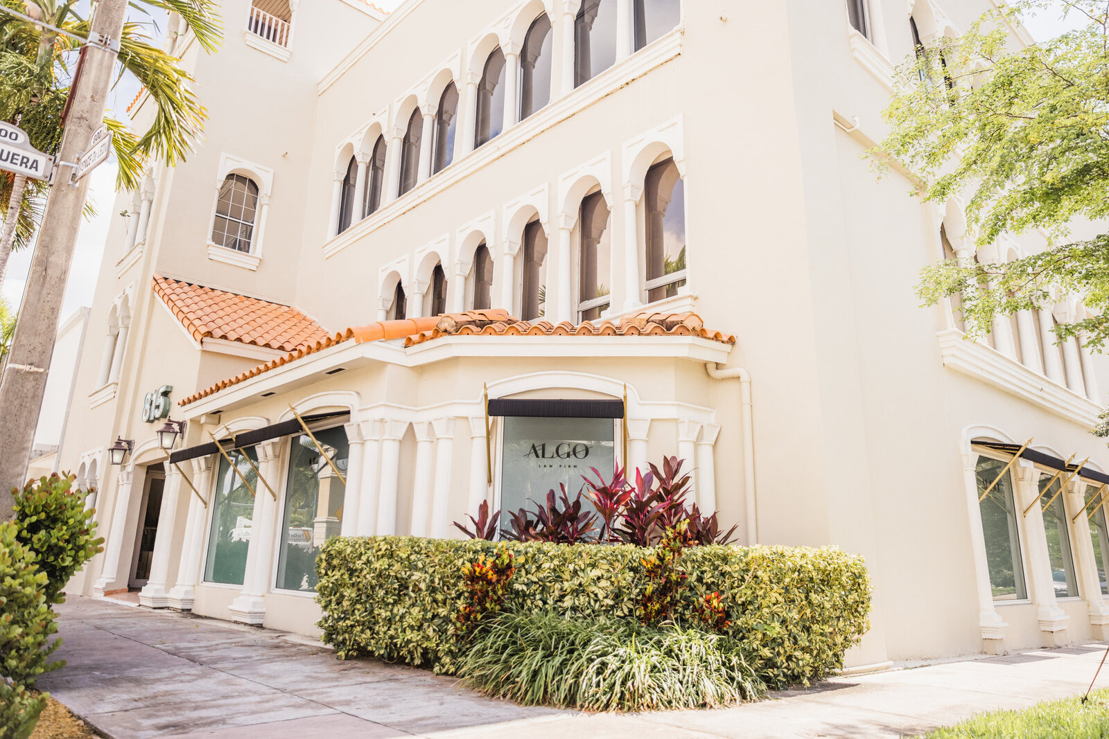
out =
[[[1109,688],[1091,692],[1085,706],[1080,700],[1049,700],[1025,710],[984,714],[928,737],[1109,737]]]

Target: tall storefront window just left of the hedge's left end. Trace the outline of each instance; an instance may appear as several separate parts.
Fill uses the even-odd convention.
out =
[[[313,433],[335,466],[346,475],[349,447],[343,427]],[[289,455],[277,587],[313,592],[319,547],[339,534],[346,485],[307,434],[293,437]]]

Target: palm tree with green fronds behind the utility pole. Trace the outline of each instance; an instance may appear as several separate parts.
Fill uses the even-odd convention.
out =
[[[222,29],[215,0],[136,0],[135,7],[177,13],[196,41],[211,53]],[[24,129],[31,145],[49,154],[61,143],[62,114],[69,95],[68,54],[89,35],[89,19],[78,13],[75,0],[0,0],[0,120]],[[24,20],[3,8],[43,21]],[[52,25],[64,33],[48,28]],[[67,35],[71,34],[71,35]],[[120,76],[134,76],[157,107],[151,127],[141,135],[105,116],[119,160],[118,186],[135,189],[151,158],[166,165],[184,161],[203,131],[206,112],[190,90],[192,78],[180,60],[151,43],[144,24],[126,23],[121,39]],[[7,173],[4,173],[7,175]],[[0,284],[13,248],[26,246],[41,218],[45,183],[23,175],[0,177],[0,201],[8,203],[0,230]]]

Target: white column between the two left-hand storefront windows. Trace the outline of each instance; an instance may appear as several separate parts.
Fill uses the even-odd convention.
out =
[[[282,494],[277,484],[282,442],[264,441],[255,449],[258,454],[258,472]],[[266,615],[266,593],[269,591],[269,573],[273,572],[274,530],[281,501],[275,501],[265,483],[255,485],[254,513],[251,516],[251,541],[246,547],[246,567],[243,571],[243,591],[232,601],[228,610],[231,619],[260,626]]]

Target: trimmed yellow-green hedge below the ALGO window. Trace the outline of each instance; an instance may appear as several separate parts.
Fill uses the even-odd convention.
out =
[[[496,544],[400,536],[335,537],[317,560],[324,640],[342,658],[369,655],[455,674],[466,647],[456,614],[468,602],[462,566]],[[506,607],[568,618],[635,618],[648,550],[508,543],[517,567]],[[686,550],[689,596],[679,620],[698,623],[694,596],[719,592],[739,640],[771,687],[807,685],[843,666],[869,627],[862,557],[834,548]]]

